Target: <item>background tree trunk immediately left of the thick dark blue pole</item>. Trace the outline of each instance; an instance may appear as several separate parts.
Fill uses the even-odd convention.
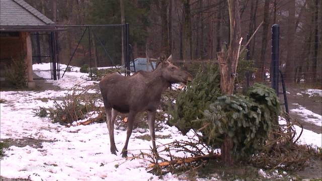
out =
[[[270,0],[265,0],[261,58],[260,58],[260,61],[258,63],[258,70],[257,70],[257,78],[259,80],[264,80],[264,73],[265,73],[267,34],[268,34],[268,30],[269,30],[269,8],[270,8],[269,5],[270,5]]]

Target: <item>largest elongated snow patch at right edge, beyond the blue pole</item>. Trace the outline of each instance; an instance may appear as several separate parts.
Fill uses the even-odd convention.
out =
[[[299,105],[298,109],[292,109],[290,111],[302,116],[305,119],[305,122],[313,123],[317,126],[322,126],[322,116],[305,109],[305,107]]]

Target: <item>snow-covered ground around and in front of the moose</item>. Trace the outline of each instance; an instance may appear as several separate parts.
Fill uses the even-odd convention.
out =
[[[38,76],[48,65],[33,65],[39,70]],[[61,65],[61,70],[66,66]],[[77,71],[77,72],[76,72]],[[62,73],[61,73],[62,75]],[[110,153],[110,143],[105,123],[87,126],[65,127],[53,124],[48,118],[35,117],[33,110],[39,107],[51,107],[54,99],[63,97],[68,88],[75,84],[91,85],[94,81],[86,81],[87,73],[79,72],[78,67],[72,67],[60,80],[46,80],[61,87],[59,91],[17,91],[0,92],[0,137],[6,138],[34,138],[48,140],[42,143],[42,148],[33,146],[11,146],[0,162],[1,175],[9,178],[30,178],[32,180],[158,180],[158,177],[148,173],[148,161],[134,159],[126,161],[121,155]],[[44,102],[47,98],[48,102]],[[306,114],[306,113],[303,113]],[[280,124],[284,124],[280,120]],[[300,132],[300,129],[295,127]],[[299,129],[299,130],[298,130]],[[150,141],[136,138],[146,133],[134,132],[129,141],[129,154],[137,154],[150,149]],[[167,135],[170,138],[157,139],[157,145],[170,143],[174,140],[187,140],[193,137],[189,132],[183,136],[175,127],[164,125],[156,135]],[[300,138],[302,144],[313,144],[321,147],[321,134],[304,130]],[[126,131],[115,130],[115,142],[121,150],[126,138]],[[120,154],[120,152],[119,152]],[[184,156],[184,153],[173,153]],[[163,177],[165,180],[178,180],[171,173]]]

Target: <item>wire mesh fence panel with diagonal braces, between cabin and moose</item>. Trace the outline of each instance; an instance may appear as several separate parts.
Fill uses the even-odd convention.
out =
[[[90,73],[94,68],[102,69],[122,64],[122,25],[59,27],[67,29],[58,33],[60,63],[88,67],[87,71]]]

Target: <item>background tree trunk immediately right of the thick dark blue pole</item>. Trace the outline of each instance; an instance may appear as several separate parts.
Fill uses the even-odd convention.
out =
[[[294,34],[295,34],[295,0],[289,1],[288,29],[287,29],[287,57],[285,67],[285,81],[294,82]]]

